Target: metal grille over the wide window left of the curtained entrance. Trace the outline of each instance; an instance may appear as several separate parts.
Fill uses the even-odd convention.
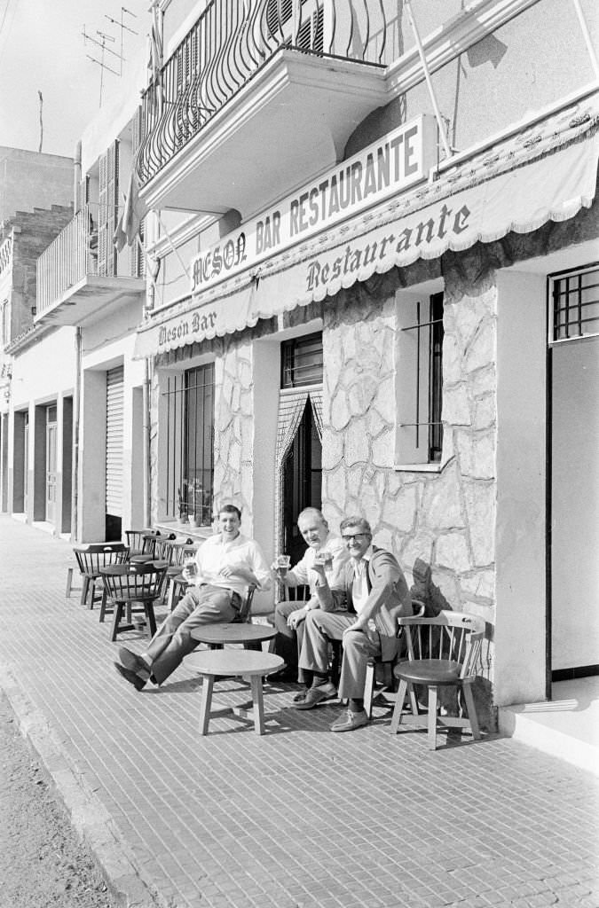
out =
[[[209,527],[214,494],[214,363],[169,377],[166,518],[196,518]]]

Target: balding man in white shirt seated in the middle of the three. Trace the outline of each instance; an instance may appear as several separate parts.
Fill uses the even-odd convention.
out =
[[[305,617],[313,608],[320,607],[316,596],[320,575],[314,570],[314,559],[319,553],[330,556],[324,562],[324,572],[330,586],[336,586],[340,572],[349,558],[342,539],[329,531],[328,523],[318,508],[304,508],[297,518],[297,528],[308,547],[303,558],[291,570],[280,568],[276,561],[272,566],[276,577],[285,587],[307,586],[310,590],[307,602],[279,602],[275,607],[275,653],[285,660],[286,667],[272,677],[280,681],[297,680],[297,659],[304,640]]]

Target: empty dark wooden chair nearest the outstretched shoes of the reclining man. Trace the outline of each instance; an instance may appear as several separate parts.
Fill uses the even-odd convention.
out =
[[[110,565],[101,569],[106,596],[102,603],[100,621],[104,621],[105,613],[112,610],[111,640],[115,640],[121,631],[135,629],[131,622],[132,612],[135,611],[145,613],[150,637],[154,637],[154,603],[160,597],[166,567],[165,561],[149,561],[146,564]],[[121,624],[125,614],[126,623]]]

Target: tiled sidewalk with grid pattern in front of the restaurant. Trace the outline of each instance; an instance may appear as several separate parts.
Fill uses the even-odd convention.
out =
[[[338,704],[294,711],[289,686],[265,686],[266,735],[201,737],[184,666],[116,675],[97,608],[65,599],[67,543],[2,517],[0,551],[0,685],[124,905],[599,908],[591,775],[511,739],[431,753],[382,708],[331,735]],[[224,682],[213,708],[247,698]]]

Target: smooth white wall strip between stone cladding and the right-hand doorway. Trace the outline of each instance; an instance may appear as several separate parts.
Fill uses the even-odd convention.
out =
[[[497,273],[494,703],[545,696],[545,279]]]

